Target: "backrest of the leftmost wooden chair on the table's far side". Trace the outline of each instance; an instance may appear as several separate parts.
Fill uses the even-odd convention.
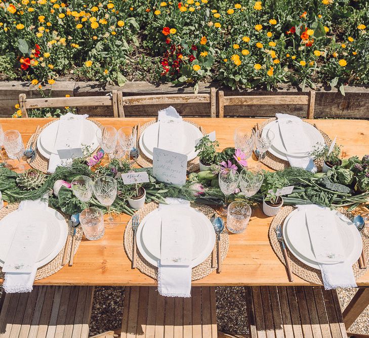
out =
[[[110,96],[70,96],[70,97],[44,97],[37,99],[27,99],[26,94],[19,95],[19,107],[22,115],[28,118],[27,109],[37,109],[46,107],[78,107],[78,106],[112,106],[114,117],[118,116],[117,91],[113,90]]]

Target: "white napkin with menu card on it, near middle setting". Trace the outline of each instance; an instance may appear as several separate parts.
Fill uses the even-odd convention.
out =
[[[189,208],[189,201],[181,199],[166,199],[168,204],[180,204],[183,208]],[[191,260],[192,260],[192,236],[190,218],[181,218],[175,220],[176,215],[169,214],[170,208],[166,204],[159,204],[159,211],[162,212],[162,232],[161,232],[161,253],[163,256],[158,261],[158,291],[162,296],[166,297],[190,297],[191,296]],[[164,216],[165,215],[165,216]],[[173,220],[175,220],[173,222]],[[170,224],[165,223],[171,221]],[[163,223],[164,222],[164,223]],[[168,227],[174,226],[179,233],[169,234]],[[167,231],[166,231],[167,228]],[[164,231],[163,231],[164,230]],[[169,236],[173,238],[186,238],[186,242],[180,243],[178,246],[168,240]],[[186,247],[188,248],[186,250]],[[172,251],[171,251],[172,250]],[[173,257],[168,256],[174,252],[180,261],[173,262]],[[180,256],[178,256],[178,254]],[[169,259],[168,259],[169,258]],[[171,261],[172,259],[172,261]]]

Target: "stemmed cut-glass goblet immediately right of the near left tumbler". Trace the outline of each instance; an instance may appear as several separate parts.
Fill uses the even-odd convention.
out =
[[[93,185],[94,194],[98,201],[108,209],[108,221],[105,223],[105,228],[114,228],[119,223],[119,215],[113,215],[110,211],[110,206],[116,198],[117,183],[113,177],[101,176],[97,178]]]

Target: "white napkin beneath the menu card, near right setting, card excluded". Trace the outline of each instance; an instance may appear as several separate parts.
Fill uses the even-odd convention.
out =
[[[321,207],[315,204],[299,205],[299,210],[304,210],[305,212],[316,213],[322,209],[329,209]],[[309,230],[309,225],[308,230]],[[313,245],[313,243],[312,243]],[[340,260],[338,258],[338,260]],[[321,264],[318,263],[321,271],[321,277],[323,279],[324,289],[330,290],[337,287],[357,287],[354,273],[350,262],[341,261],[336,264]]]

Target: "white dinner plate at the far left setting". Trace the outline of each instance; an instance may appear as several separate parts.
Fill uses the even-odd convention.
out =
[[[96,131],[99,127],[90,120],[83,121],[84,128],[81,135],[81,146],[88,146],[89,151],[94,152],[99,146],[96,137]],[[47,159],[50,159],[51,154],[58,154],[55,150],[55,139],[58,132],[59,120],[47,126],[37,138],[37,150]]]

